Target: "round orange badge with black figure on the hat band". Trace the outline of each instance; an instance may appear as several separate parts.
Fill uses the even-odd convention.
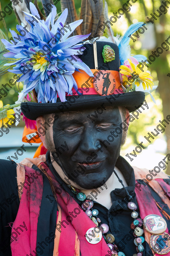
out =
[[[93,83],[95,91],[102,96],[113,94],[116,87],[114,75],[110,73],[109,70],[102,70],[102,73],[103,74],[100,75],[100,80],[96,80]]]

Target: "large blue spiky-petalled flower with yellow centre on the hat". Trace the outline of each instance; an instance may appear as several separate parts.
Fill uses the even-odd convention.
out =
[[[40,19],[35,5],[31,2],[30,10],[31,14],[24,12],[25,20],[31,25],[30,31],[17,25],[16,28],[22,36],[10,30],[13,36],[11,43],[2,39],[5,48],[9,50],[4,56],[17,59],[12,63],[16,66],[9,71],[22,74],[19,81],[24,82],[24,95],[35,89],[38,102],[54,103],[57,93],[61,101],[66,101],[66,93],[71,94],[72,88],[77,90],[77,83],[73,77],[75,70],[82,69],[89,76],[93,75],[90,68],[77,56],[83,54],[81,51],[78,52],[83,44],[78,43],[90,34],[67,38],[83,21],[77,20],[70,24],[67,22],[64,26],[68,9],[63,11],[55,24],[54,5],[46,21]]]

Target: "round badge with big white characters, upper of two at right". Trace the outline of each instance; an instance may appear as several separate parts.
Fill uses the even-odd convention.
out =
[[[145,226],[144,229],[151,234],[161,234],[165,232],[167,224],[165,219],[156,214],[149,214],[144,218]]]

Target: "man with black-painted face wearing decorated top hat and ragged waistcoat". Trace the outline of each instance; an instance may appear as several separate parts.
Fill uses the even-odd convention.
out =
[[[130,112],[141,107],[144,91],[121,81],[116,44],[86,42],[83,47],[88,53],[81,60],[94,75],[76,70],[77,91],[73,87],[63,102],[56,96],[55,103],[21,104],[24,115],[36,120],[36,136],[29,142],[40,137],[43,146],[39,157],[1,162],[2,191],[8,185],[11,193],[6,191],[7,201],[0,204],[4,255],[169,255],[170,203],[164,195],[169,177],[160,172],[148,182],[148,170],[132,168],[120,156],[124,120],[128,125]],[[103,96],[102,77],[108,70],[111,83]],[[59,89],[61,95],[62,85]],[[9,222],[12,230],[6,228]]]

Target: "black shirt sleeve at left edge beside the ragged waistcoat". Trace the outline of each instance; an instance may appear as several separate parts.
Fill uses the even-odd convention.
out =
[[[16,163],[1,159],[0,177],[0,256],[11,256],[10,225],[12,226],[11,222],[14,222],[19,208]]]

